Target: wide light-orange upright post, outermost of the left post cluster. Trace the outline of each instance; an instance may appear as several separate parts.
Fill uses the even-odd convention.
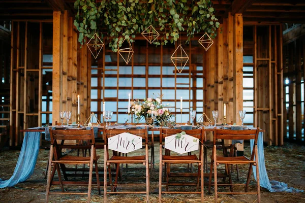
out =
[[[62,14],[59,11],[53,12],[53,75],[52,75],[52,123],[59,119],[59,111],[61,110],[61,91],[62,91],[62,73],[63,61],[61,45],[62,36]]]

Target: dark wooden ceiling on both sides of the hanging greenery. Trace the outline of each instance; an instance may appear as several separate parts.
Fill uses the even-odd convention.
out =
[[[216,17],[242,13],[245,23],[305,23],[304,0],[212,0]],[[74,0],[1,0],[0,20],[52,20],[53,11],[73,9]]]

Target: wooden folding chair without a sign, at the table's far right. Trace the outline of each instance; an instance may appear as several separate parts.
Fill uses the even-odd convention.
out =
[[[214,186],[215,186],[215,202],[217,202],[218,194],[257,194],[258,202],[260,202],[260,185],[259,185],[259,167],[258,167],[258,152],[257,152],[257,140],[258,140],[259,128],[253,130],[230,130],[230,129],[214,129],[213,150],[212,150],[212,164],[210,168],[209,181],[212,178],[212,168],[214,168]],[[221,140],[254,140],[254,146],[252,155],[250,158],[246,156],[217,156],[216,154],[216,142]],[[228,170],[229,183],[217,183],[217,166],[219,164],[226,164],[227,167],[230,164],[249,164],[249,171],[246,184],[233,184],[230,170]],[[250,176],[252,172],[252,166],[256,166],[257,174],[257,192],[248,192],[248,186],[250,183]],[[218,185],[230,186],[230,192],[218,192]],[[245,192],[234,192],[233,185],[245,185]]]

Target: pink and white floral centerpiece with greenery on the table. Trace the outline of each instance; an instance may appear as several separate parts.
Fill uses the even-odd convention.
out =
[[[140,122],[141,118],[145,119],[147,124],[153,124],[153,118],[155,116],[155,124],[160,126],[169,126],[173,123],[170,121],[173,117],[169,111],[169,105],[161,104],[163,95],[159,95],[157,98],[147,98],[143,101],[136,99],[131,105],[131,112],[137,117],[134,119],[135,122]]]

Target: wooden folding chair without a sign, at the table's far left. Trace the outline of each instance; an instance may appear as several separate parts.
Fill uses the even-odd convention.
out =
[[[100,180],[98,173],[98,164],[97,161],[99,156],[96,154],[95,140],[94,140],[94,131],[93,128],[90,130],[52,130],[50,128],[50,138],[51,138],[51,148],[50,148],[50,157],[49,157],[49,171],[48,171],[48,180],[46,188],[46,200],[48,202],[49,194],[87,194],[87,202],[90,202],[91,187],[92,187],[92,175],[93,175],[93,165],[95,164],[97,186],[99,194],[101,193],[100,189]],[[65,144],[65,141],[89,141],[87,145],[73,145],[71,143]],[[62,149],[90,149],[89,157],[81,156],[72,156],[66,155],[62,156]],[[62,175],[60,173],[60,168],[65,168],[66,164],[88,164],[89,165],[89,181],[63,181]],[[52,166],[52,167],[51,167]],[[50,170],[51,169],[51,170]],[[53,181],[55,171],[58,174],[59,181]],[[64,185],[88,185],[88,192],[65,192]],[[60,185],[62,189],[61,192],[50,192],[51,185]]]

